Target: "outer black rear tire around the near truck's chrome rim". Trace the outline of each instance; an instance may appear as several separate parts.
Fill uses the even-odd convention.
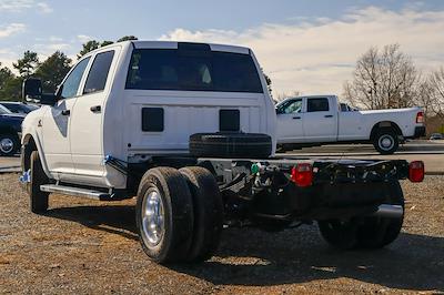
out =
[[[159,241],[148,232],[149,217],[144,216],[149,212],[147,202],[155,194],[161,201],[161,208],[157,207],[161,217],[155,222],[163,222]],[[193,205],[185,177],[178,170],[155,167],[143,175],[138,190],[135,223],[142,248],[152,261],[174,263],[186,260],[192,241]]]

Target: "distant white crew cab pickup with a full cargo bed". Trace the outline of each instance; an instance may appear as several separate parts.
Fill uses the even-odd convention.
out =
[[[290,98],[276,104],[276,114],[278,143],[283,150],[372,143],[381,154],[392,154],[406,139],[425,135],[420,108],[360,111],[340,103],[336,95]]]

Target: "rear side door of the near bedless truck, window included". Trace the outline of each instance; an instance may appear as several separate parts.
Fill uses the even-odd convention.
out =
[[[88,177],[89,184],[101,185],[103,165],[103,112],[109,93],[107,83],[117,49],[92,57],[84,87],[71,115],[71,154],[75,180]]]

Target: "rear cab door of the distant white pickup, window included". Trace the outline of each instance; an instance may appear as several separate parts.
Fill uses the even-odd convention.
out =
[[[337,139],[337,110],[332,98],[305,98],[303,118],[306,142],[332,142]]]

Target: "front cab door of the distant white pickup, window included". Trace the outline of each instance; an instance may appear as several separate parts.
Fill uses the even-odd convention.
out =
[[[304,141],[303,100],[292,99],[276,108],[278,142],[296,143]]]

